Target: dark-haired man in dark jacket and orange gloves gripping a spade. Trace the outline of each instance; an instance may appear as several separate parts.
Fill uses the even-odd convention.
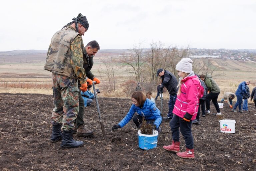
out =
[[[93,56],[98,52],[100,49],[100,46],[98,42],[95,40],[90,41],[83,49],[83,59],[84,64],[83,68],[85,70],[87,78],[88,85],[92,84],[92,81],[96,81],[96,84],[100,83],[100,80],[93,75],[91,72],[92,66],[93,66]],[[78,88],[80,87],[80,84],[78,84]],[[74,128],[74,132],[77,132],[78,134],[82,136],[89,136],[93,134],[93,131],[89,130],[84,125],[84,100],[81,96],[81,91],[79,92],[79,112],[76,118],[76,127]]]

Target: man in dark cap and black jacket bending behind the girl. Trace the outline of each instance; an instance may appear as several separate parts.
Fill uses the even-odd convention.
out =
[[[174,108],[174,104],[177,98],[177,86],[178,81],[176,77],[169,71],[163,70],[162,68],[157,70],[156,76],[160,76],[162,79],[162,84],[160,86],[159,92],[163,92],[163,88],[166,87],[170,94],[170,100],[168,103],[169,111],[167,117],[163,117],[163,120],[171,120],[172,119],[172,110]],[[162,97],[163,98],[163,97]]]

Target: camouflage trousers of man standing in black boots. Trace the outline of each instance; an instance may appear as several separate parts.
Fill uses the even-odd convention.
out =
[[[51,122],[63,123],[62,129],[74,127],[74,121],[79,111],[77,80],[67,76],[52,73],[54,109]]]

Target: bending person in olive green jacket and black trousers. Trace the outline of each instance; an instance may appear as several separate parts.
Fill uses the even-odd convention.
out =
[[[218,104],[218,101],[217,101],[218,96],[220,94],[219,86],[212,79],[212,76],[210,74],[206,74],[205,84],[206,84],[207,89],[209,91],[209,94],[207,95],[207,97],[205,99],[207,113],[210,113],[210,101],[212,100],[212,103],[214,104],[215,109],[217,111],[217,113],[214,113],[213,115],[221,115],[219,104]]]

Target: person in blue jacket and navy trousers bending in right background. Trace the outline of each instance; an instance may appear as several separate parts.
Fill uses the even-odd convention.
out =
[[[239,108],[239,111],[238,112],[241,112],[241,113],[244,113],[244,111],[242,111],[241,107],[242,107],[242,97],[244,94],[247,94],[247,91],[246,91],[246,85],[249,85],[251,82],[250,81],[243,81],[239,84],[237,90],[236,90],[236,98],[237,98],[237,101],[236,101],[236,104],[233,108],[233,112],[237,112],[236,111],[236,108],[238,106]]]

